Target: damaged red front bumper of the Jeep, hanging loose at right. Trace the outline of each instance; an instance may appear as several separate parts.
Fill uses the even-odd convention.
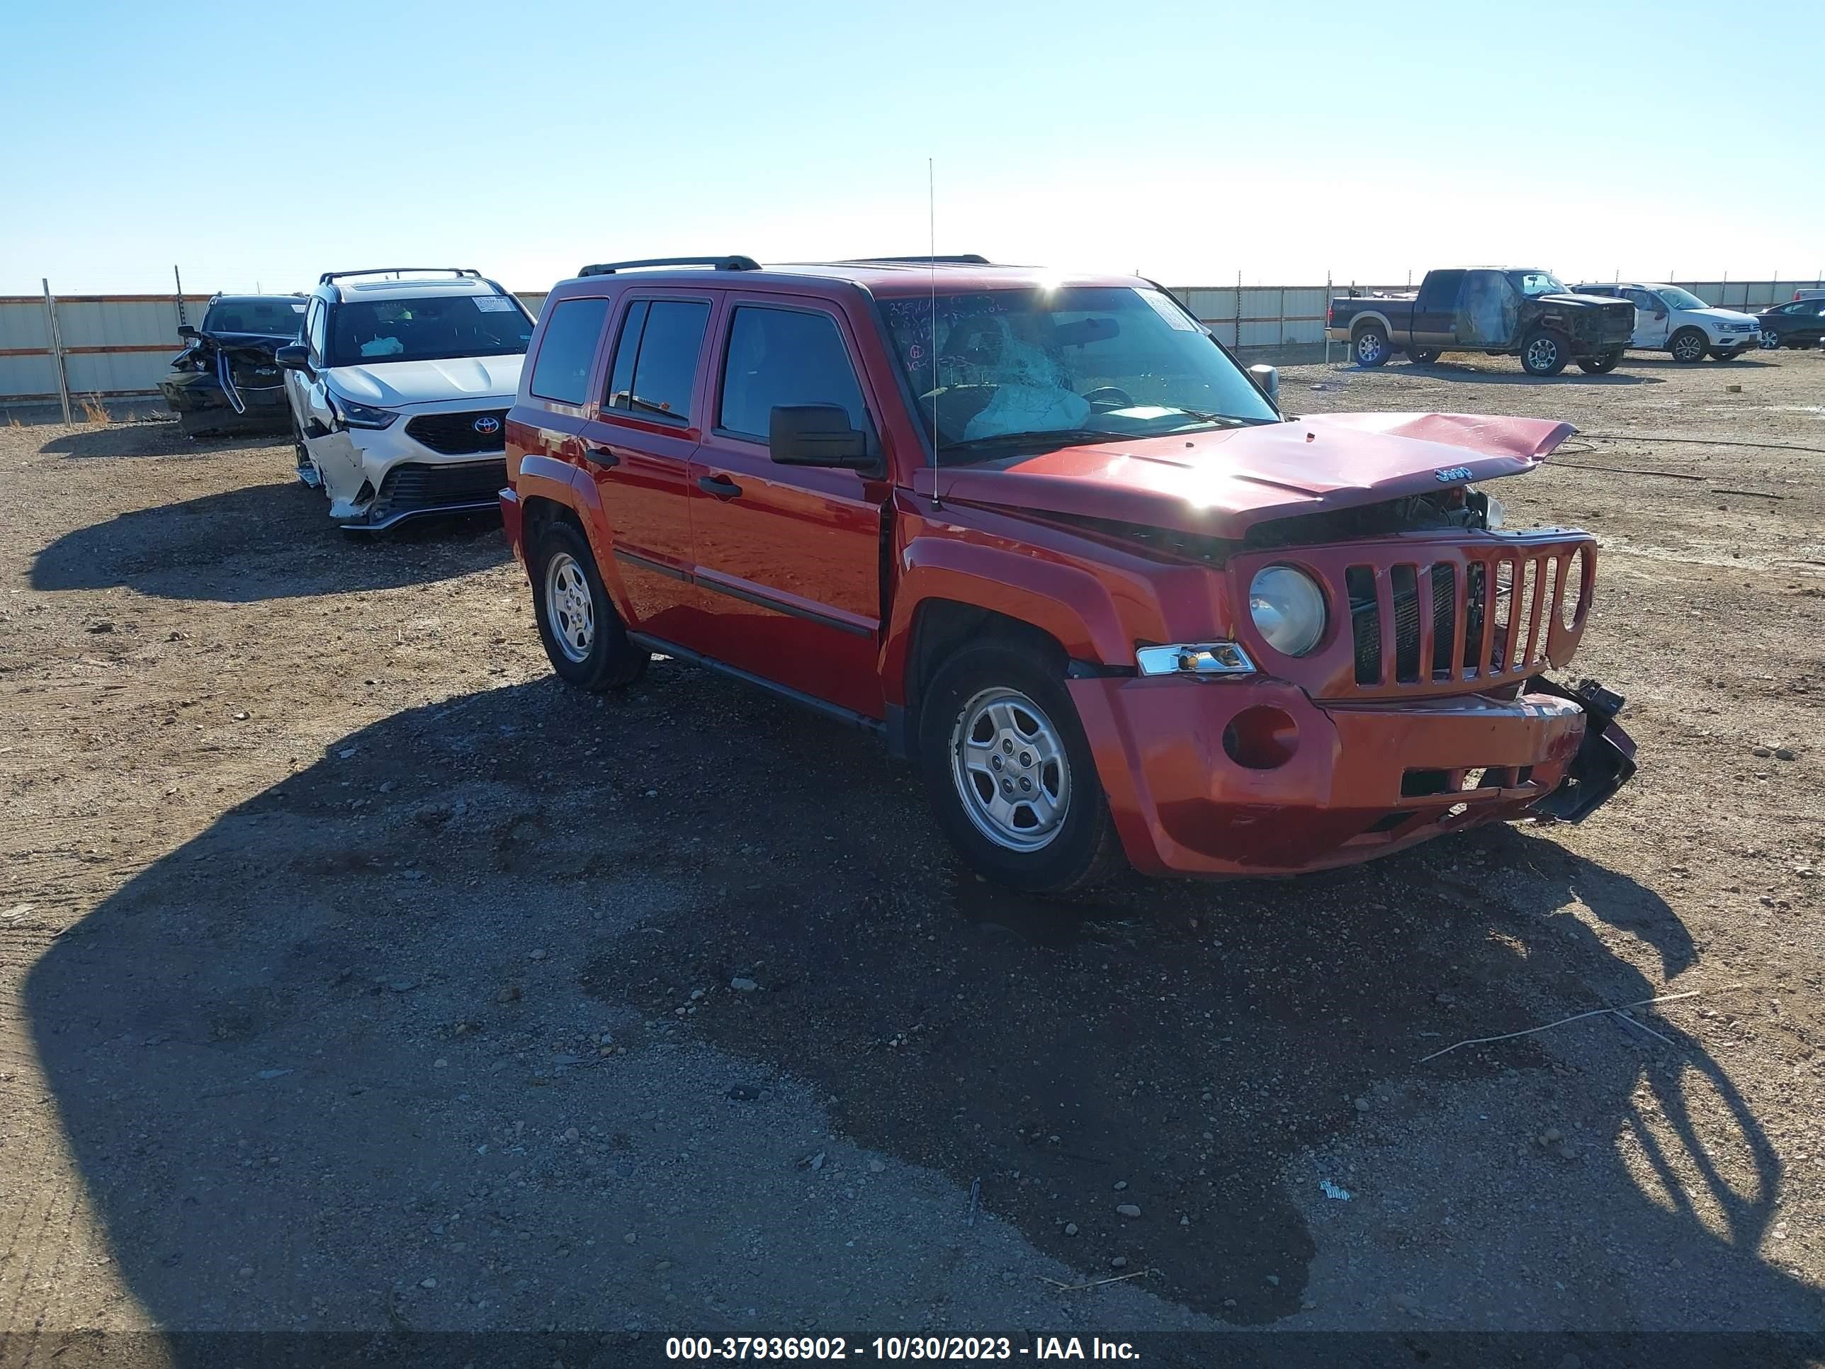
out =
[[[1068,688],[1144,874],[1301,874],[1489,821],[1580,821],[1635,772],[1622,701],[1593,683],[1349,705],[1259,677]]]

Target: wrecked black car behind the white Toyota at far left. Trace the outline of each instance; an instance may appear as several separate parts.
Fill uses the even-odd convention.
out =
[[[184,436],[288,433],[292,409],[272,352],[297,341],[305,298],[294,294],[219,294],[201,327],[181,327],[184,350],[159,392]]]

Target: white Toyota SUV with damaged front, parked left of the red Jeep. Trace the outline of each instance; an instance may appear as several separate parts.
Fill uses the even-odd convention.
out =
[[[303,341],[277,350],[299,480],[361,531],[495,507],[531,338],[526,307],[474,270],[325,272]]]

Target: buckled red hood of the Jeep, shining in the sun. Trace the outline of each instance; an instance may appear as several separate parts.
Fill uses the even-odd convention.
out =
[[[1314,414],[944,467],[947,500],[1243,537],[1254,524],[1524,475],[1577,429],[1482,414]],[[929,495],[933,473],[912,487]]]

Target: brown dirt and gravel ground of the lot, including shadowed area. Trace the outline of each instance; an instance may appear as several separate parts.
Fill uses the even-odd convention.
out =
[[[1602,540],[1610,807],[1009,898],[867,737],[670,661],[558,686],[498,520],[350,540],[287,445],[0,427],[0,1362],[1816,1332],[1825,354],[1283,394],[1579,425],[1493,489]]]

